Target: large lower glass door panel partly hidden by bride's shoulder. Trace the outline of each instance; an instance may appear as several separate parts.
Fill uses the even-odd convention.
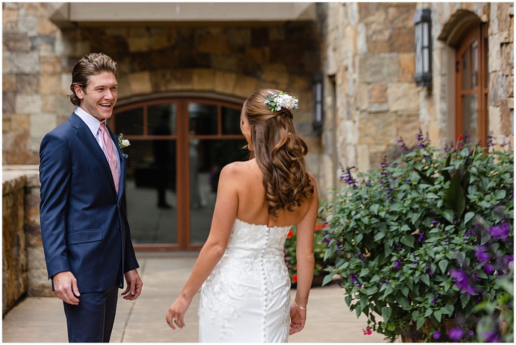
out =
[[[212,222],[222,168],[246,160],[244,139],[190,139],[190,244],[203,244]]]

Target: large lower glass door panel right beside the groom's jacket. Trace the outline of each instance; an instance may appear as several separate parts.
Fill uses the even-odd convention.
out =
[[[177,239],[175,140],[131,140],[127,158],[127,219],[134,244]]]

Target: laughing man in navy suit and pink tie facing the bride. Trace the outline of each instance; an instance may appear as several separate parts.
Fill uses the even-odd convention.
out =
[[[90,53],[73,67],[68,121],[40,147],[41,237],[70,342],[109,342],[117,291],[133,301],[142,281],[125,207],[118,138],[106,126],[117,102],[118,65]]]

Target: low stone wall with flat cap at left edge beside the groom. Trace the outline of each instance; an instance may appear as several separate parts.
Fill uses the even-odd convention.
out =
[[[25,293],[55,295],[47,278],[41,243],[37,168],[3,167],[2,314]]]

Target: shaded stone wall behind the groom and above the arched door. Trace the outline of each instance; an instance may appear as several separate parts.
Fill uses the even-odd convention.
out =
[[[39,162],[43,135],[74,107],[73,64],[89,52],[119,63],[119,102],[171,92],[245,100],[259,88],[296,95],[296,125],[318,165],[312,80],[319,71],[314,23],[104,24],[58,28],[45,3],[3,3],[3,162]]]

